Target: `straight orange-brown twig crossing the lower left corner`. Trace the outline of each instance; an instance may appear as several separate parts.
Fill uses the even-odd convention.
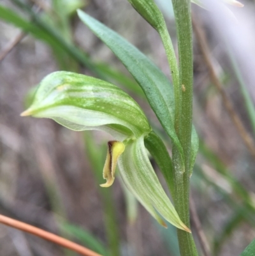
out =
[[[45,230],[38,229],[37,227],[33,227],[24,222],[18,222],[18,220],[13,220],[12,218],[8,218],[3,215],[0,215],[0,223],[3,223],[4,225],[8,225],[9,227],[13,227],[15,229],[22,230],[27,233],[33,234],[34,236],[39,236],[45,240],[56,243],[57,245],[64,246],[69,250],[73,250],[85,256],[102,256],[101,254],[93,252],[85,248],[84,246],[77,245],[77,243],[73,243],[68,239],[64,239],[60,236],[57,236]]]

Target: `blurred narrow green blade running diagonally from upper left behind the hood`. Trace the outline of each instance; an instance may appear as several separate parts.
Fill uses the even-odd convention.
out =
[[[32,17],[36,16],[35,13],[31,13],[31,10],[29,11],[29,14]],[[92,72],[96,73],[99,78],[107,79],[112,82],[119,82],[132,92],[135,92],[140,96],[144,95],[142,89],[140,89],[140,87],[136,87],[136,82],[127,77],[124,73],[113,70],[104,63],[92,63],[84,52],[75,47],[72,43],[66,43],[64,38],[62,38],[60,34],[57,34],[54,27],[49,27],[48,24],[46,24],[46,21],[40,19],[38,15],[36,16],[36,22],[30,22],[10,8],[0,5],[0,19],[13,24],[13,26],[19,27],[23,31],[30,33],[35,38],[48,43],[48,45],[52,47],[59,64],[61,64],[62,70],[66,70],[66,65],[61,61],[61,59],[64,59],[63,56],[65,56],[65,54],[69,54],[69,56],[73,57],[73,59],[78,63],[87,66],[87,68]]]

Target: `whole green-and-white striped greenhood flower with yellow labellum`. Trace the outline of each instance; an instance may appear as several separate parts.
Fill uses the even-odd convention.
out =
[[[150,164],[144,139],[152,132],[139,105],[119,87],[71,72],[55,72],[43,79],[34,100],[21,116],[47,117],[71,130],[103,130],[117,140],[108,142],[103,177],[112,185],[115,167],[136,199],[166,226],[190,230],[180,220]],[[159,216],[159,214],[161,216]]]

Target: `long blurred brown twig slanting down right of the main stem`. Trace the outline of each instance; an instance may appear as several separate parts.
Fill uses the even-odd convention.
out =
[[[255,146],[254,146],[252,137],[251,135],[249,135],[249,133],[247,133],[247,130],[245,129],[244,124],[242,124],[241,119],[237,116],[237,113],[233,108],[231,100],[230,98],[228,98],[228,95],[224,91],[221,85],[221,82],[219,81],[215,73],[214,67],[212,66],[212,62],[210,60],[210,50],[208,47],[207,40],[205,38],[205,34],[203,33],[203,30],[201,29],[199,22],[196,19],[194,19],[194,17],[192,19],[192,22],[193,22],[194,33],[196,34],[196,39],[198,40],[198,45],[200,46],[201,54],[203,56],[205,64],[207,65],[210,79],[212,80],[212,83],[215,85],[215,87],[217,87],[217,89],[219,90],[219,93],[222,96],[222,101],[224,103],[224,106],[228,111],[228,114],[230,115],[231,120],[235,124],[238,130],[238,133],[240,134],[240,137],[242,138],[242,140],[244,140],[244,144],[247,146],[252,156],[255,157]]]

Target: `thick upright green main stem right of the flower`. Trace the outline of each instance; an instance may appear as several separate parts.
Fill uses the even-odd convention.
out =
[[[181,155],[176,147],[173,147],[173,168],[175,173],[175,207],[182,222],[187,227],[189,223],[189,165],[191,158],[191,129],[192,129],[192,101],[193,101],[193,41],[191,26],[191,3],[189,0],[173,0],[173,10],[177,26],[177,38],[179,47],[180,68],[180,111],[177,135],[184,150],[184,165]],[[196,245],[192,234],[183,230],[177,230],[180,255],[196,256]]]

